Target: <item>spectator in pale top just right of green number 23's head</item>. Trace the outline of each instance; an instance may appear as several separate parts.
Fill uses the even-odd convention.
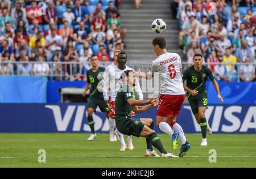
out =
[[[214,75],[216,76],[216,79],[218,81],[231,82],[231,79],[228,76],[228,71],[223,64],[223,57],[218,57],[218,62],[220,64],[214,66]]]

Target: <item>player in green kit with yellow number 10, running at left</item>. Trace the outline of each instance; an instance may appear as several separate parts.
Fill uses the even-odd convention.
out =
[[[106,113],[106,117],[109,119],[109,108],[106,108],[105,101],[103,98],[102,92],[98,91],[98,83],[101,82],[102,75],[105,71],[105,68],[98,66],[98,57],[93,55],[91,57],[90,63],[92,64],[92,69],[87,71],[87,83],[82,93],[82,96],[88,95],[87,91],[90,89],[89,94],[89,102],[87,104],[87,118],[88,124],[90,126],[91,134],[87,140],[93,140],[97,137],[94,131],[94,121],[93,121],[93,112],[96,110],[97,106],[99,106],[101,112]]]

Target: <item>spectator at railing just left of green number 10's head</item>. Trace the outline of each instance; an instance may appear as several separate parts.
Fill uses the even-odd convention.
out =
[[[75,58],[70,58],[71,62],[76,62]],[[68,64],[65,73],[65,80],[77,81],[81,80],[81,72],[79,64]]]

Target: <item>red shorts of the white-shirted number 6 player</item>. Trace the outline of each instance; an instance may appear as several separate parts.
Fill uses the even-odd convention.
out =
[[[160,95],[156,114],[162,117],[179,116],[184,99],[185,95]]]

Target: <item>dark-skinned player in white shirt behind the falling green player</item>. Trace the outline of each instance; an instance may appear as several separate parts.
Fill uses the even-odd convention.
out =
[[[105,103],[108,104],[110,106],[110,118],[111,120],[114,121],[115,119],[115,97],[117,96],[117,92],[119,90],[119,88],[121,87],[121,80],[120,80],[120,75],[123,73],[123,71],[126,71],[126,70],[132,70],[134,71],[133,69],[131,69],[130,67],[128,67],[126,65],[126,62],[127,62],[127,54],[124,53],[124,52],[121,52],[117,55],[117,62],[118,62],[118,66],[115,66],[113,69],[110,69],[109,71],[109,74],[110,74],[110,77],[108,80],[106,80],[106,77],[104,75],[104,87],[103,87],[103,93],[104,93],[104,98],[105,98]],[[110,82],[110,97],[108,97],[108,87],[106,86],[107,85],[107,82]],[[141,91],[141,87],[139,86],[139,83],[137,82],[136,80],[136,85],[133,87],[133,91],[134,91],[134,98],[135,98],[135,93],[137,94],[138,96],[138,99],[139,100],[143,100],[143,93]],[[109,101],[109,98],[110,98],[110,101]],[[131,116],[134,116],[134,112],[131,110]],[[129,148],[129,150],[133,150],[134,146],[133,146],[133,143],[132,143],[132,140],[131,140],[131,135],[128,136],[126,142],[127,142],[127,146],[126,146],[126,143],[125,143],[125,139],[123,138],[123,135],[121,133],[118,132],[117,130],[117,133],[118,133],[118,136],[120,138],[120,142],[121,142],[121,148],[120,148],[120,151],[125,151],[127,150],[127,147]]]

